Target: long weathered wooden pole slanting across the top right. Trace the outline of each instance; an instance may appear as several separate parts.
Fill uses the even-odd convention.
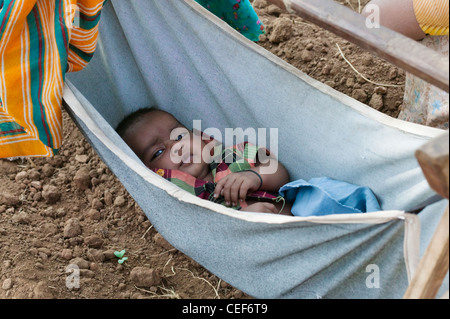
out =
[[[383,26],[368,27],[364,16],[333,0],[267,1],[449,92],[448,59],[417,41]]]

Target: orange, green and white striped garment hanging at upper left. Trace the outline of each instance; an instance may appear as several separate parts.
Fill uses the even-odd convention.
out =
[[[0,0],[0,158],[62,143],[66,72],[92,58],[107,0]]]

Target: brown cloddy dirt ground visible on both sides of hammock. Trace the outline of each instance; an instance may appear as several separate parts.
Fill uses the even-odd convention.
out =
[[[402,70],[265,0],[254,6],[268,30],[261,46],[397,116]],[[251,298],[165,241],[66,113],[64,136],[54,158],[0,160],[1,299]]]

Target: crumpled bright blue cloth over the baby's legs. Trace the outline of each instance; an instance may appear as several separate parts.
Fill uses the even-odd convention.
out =
[[[368,187],[317,177],[308,182],[299,179],[279,190],[287,202],[293,203],[294,216],[366,213],[380,210],[380,205]]]

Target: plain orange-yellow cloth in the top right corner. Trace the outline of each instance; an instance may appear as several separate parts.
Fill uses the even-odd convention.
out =
[[[414,12],[423,32],[448,35],[449,0],[413,0]]]

